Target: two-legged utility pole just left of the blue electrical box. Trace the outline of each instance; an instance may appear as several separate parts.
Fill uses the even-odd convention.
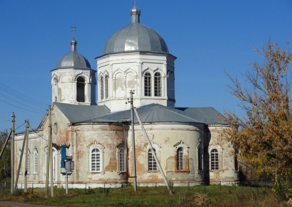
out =
[[[51,161],[51,164],[50,164]],[[51,169],[50,169],[51,168]],[[48,109],[48,156],[46,164],[46,194],[49,194],[49,172],[51,174],[51,197],[54,196],[53,181],[53,153],[52,153],[52,111],[51,106]]]

